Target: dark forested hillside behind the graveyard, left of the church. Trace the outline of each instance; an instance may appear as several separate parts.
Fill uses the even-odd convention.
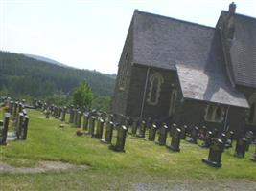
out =
[[[112,96],[115,78],[95,71],[61,67],[18,53],[0,51],[0,91],[10,96],[51,96],[70,93],[86,80],[94,94]]]

